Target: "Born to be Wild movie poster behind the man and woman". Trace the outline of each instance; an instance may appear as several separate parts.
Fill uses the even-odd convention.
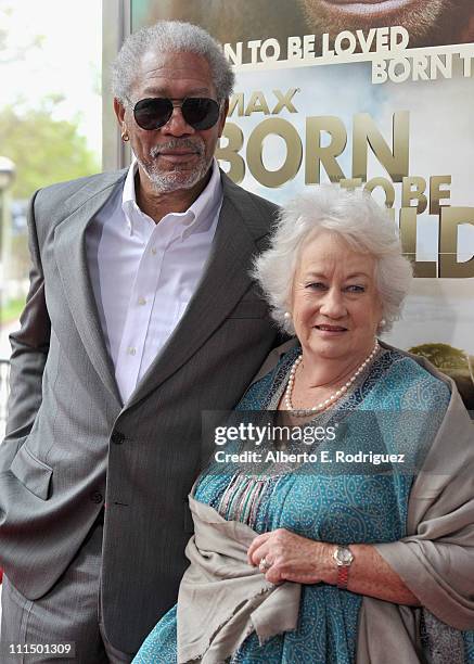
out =
[[[363,188],[400,228],[415,279],[384,336],[456,379],[474,410],[472,0],[132,0],[131,28],[190,21],[236,72],[218,157],[277,203]]]

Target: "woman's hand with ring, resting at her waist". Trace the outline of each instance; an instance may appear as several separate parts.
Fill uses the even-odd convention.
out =
[[[278,528],[258,535],[251,544],[247,557],[248,563],[255,566],[265,558],[265,577],[272,584],[284,580],[299,584],[335,584],[337,569],[332,558],[334,548],[334,545],[315,541],[285,528]]]

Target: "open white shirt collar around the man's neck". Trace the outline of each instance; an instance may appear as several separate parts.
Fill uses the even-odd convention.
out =
[[[136,191],[134,191],[134,176],[138,170],[138,162],[133,158],[130,168],[128,169],[127,177],[124,183],[124,191],[121,195],[121,209],[125,215],[125,220],[130,234],[133,233],[133,227],[137,226],[137,217],[148,217],[142,213],[137,204]],[[217,214],[222,203],[222,183],[220,181],[219,166],[216,159],[213,159],[212,174],[209,181],[207,182],[204,190],[197,196],[197,199],[190,205],[190,207],[183,213],[171,213],[166,215],[163,220],[167,217],[174,217],[174,224],[182,226],[181,239],[185,239],[197,228],[200,230],[207,230]],[[154,221],[150,219],[153,224]]]

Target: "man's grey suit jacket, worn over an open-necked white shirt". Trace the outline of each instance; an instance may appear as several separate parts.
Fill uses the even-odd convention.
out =
[[[0,445],[0,565],[23,595],[40,598],[105,506],[105,633],[133,653],[176,601],[185,569],[201,413],[235,406],[277,344],[248,274],[277,207],[222,174],[222,208],[197,291],[123,406],[85,231],[125,175],[55,184],[31,201],[30,290],[21,331],[11,336],[10,417]]]

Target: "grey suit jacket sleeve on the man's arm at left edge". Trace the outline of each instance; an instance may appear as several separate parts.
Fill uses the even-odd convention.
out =
[[[38,193],[38,192],[37,192]],[[51,324],[44,299],[44,278],[35,222],[35,200],[28,209],[31,268],[21,329],[10,335],[12,345],[7,435],[0,445],[0,471],[7,471],[31,430],[41,405],[41,383],[48,357]]]

